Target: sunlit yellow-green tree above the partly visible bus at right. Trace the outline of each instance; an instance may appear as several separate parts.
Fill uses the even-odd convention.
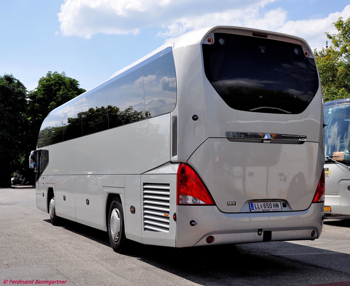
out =
[[[332,45],[314,50],[324,102],[350,97],[350,18],[333,24],[338,33],[325,33]]]

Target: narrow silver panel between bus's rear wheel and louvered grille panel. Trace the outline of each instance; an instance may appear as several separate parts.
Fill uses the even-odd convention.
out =
[[[126,238],[142,242],[141,175],[125,176],[125,235]],[[135,209],[133,214],[131,208]]]

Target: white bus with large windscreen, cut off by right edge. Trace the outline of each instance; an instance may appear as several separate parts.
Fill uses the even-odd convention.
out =
[[[350,98],[324,104],[325,214],[350,215]]]

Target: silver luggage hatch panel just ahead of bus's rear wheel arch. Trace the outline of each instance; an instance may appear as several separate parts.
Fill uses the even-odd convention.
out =
[[[103,228],[102,175],[75,176],[77,222]]]

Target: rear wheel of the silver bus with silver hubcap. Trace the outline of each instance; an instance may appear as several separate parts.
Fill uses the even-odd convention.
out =
[[[118,197],[114,197],[108,215],[108,235],[110,243],[115,252],[122,252],[125,249],[125,228],[124,214],[121,201]]]

